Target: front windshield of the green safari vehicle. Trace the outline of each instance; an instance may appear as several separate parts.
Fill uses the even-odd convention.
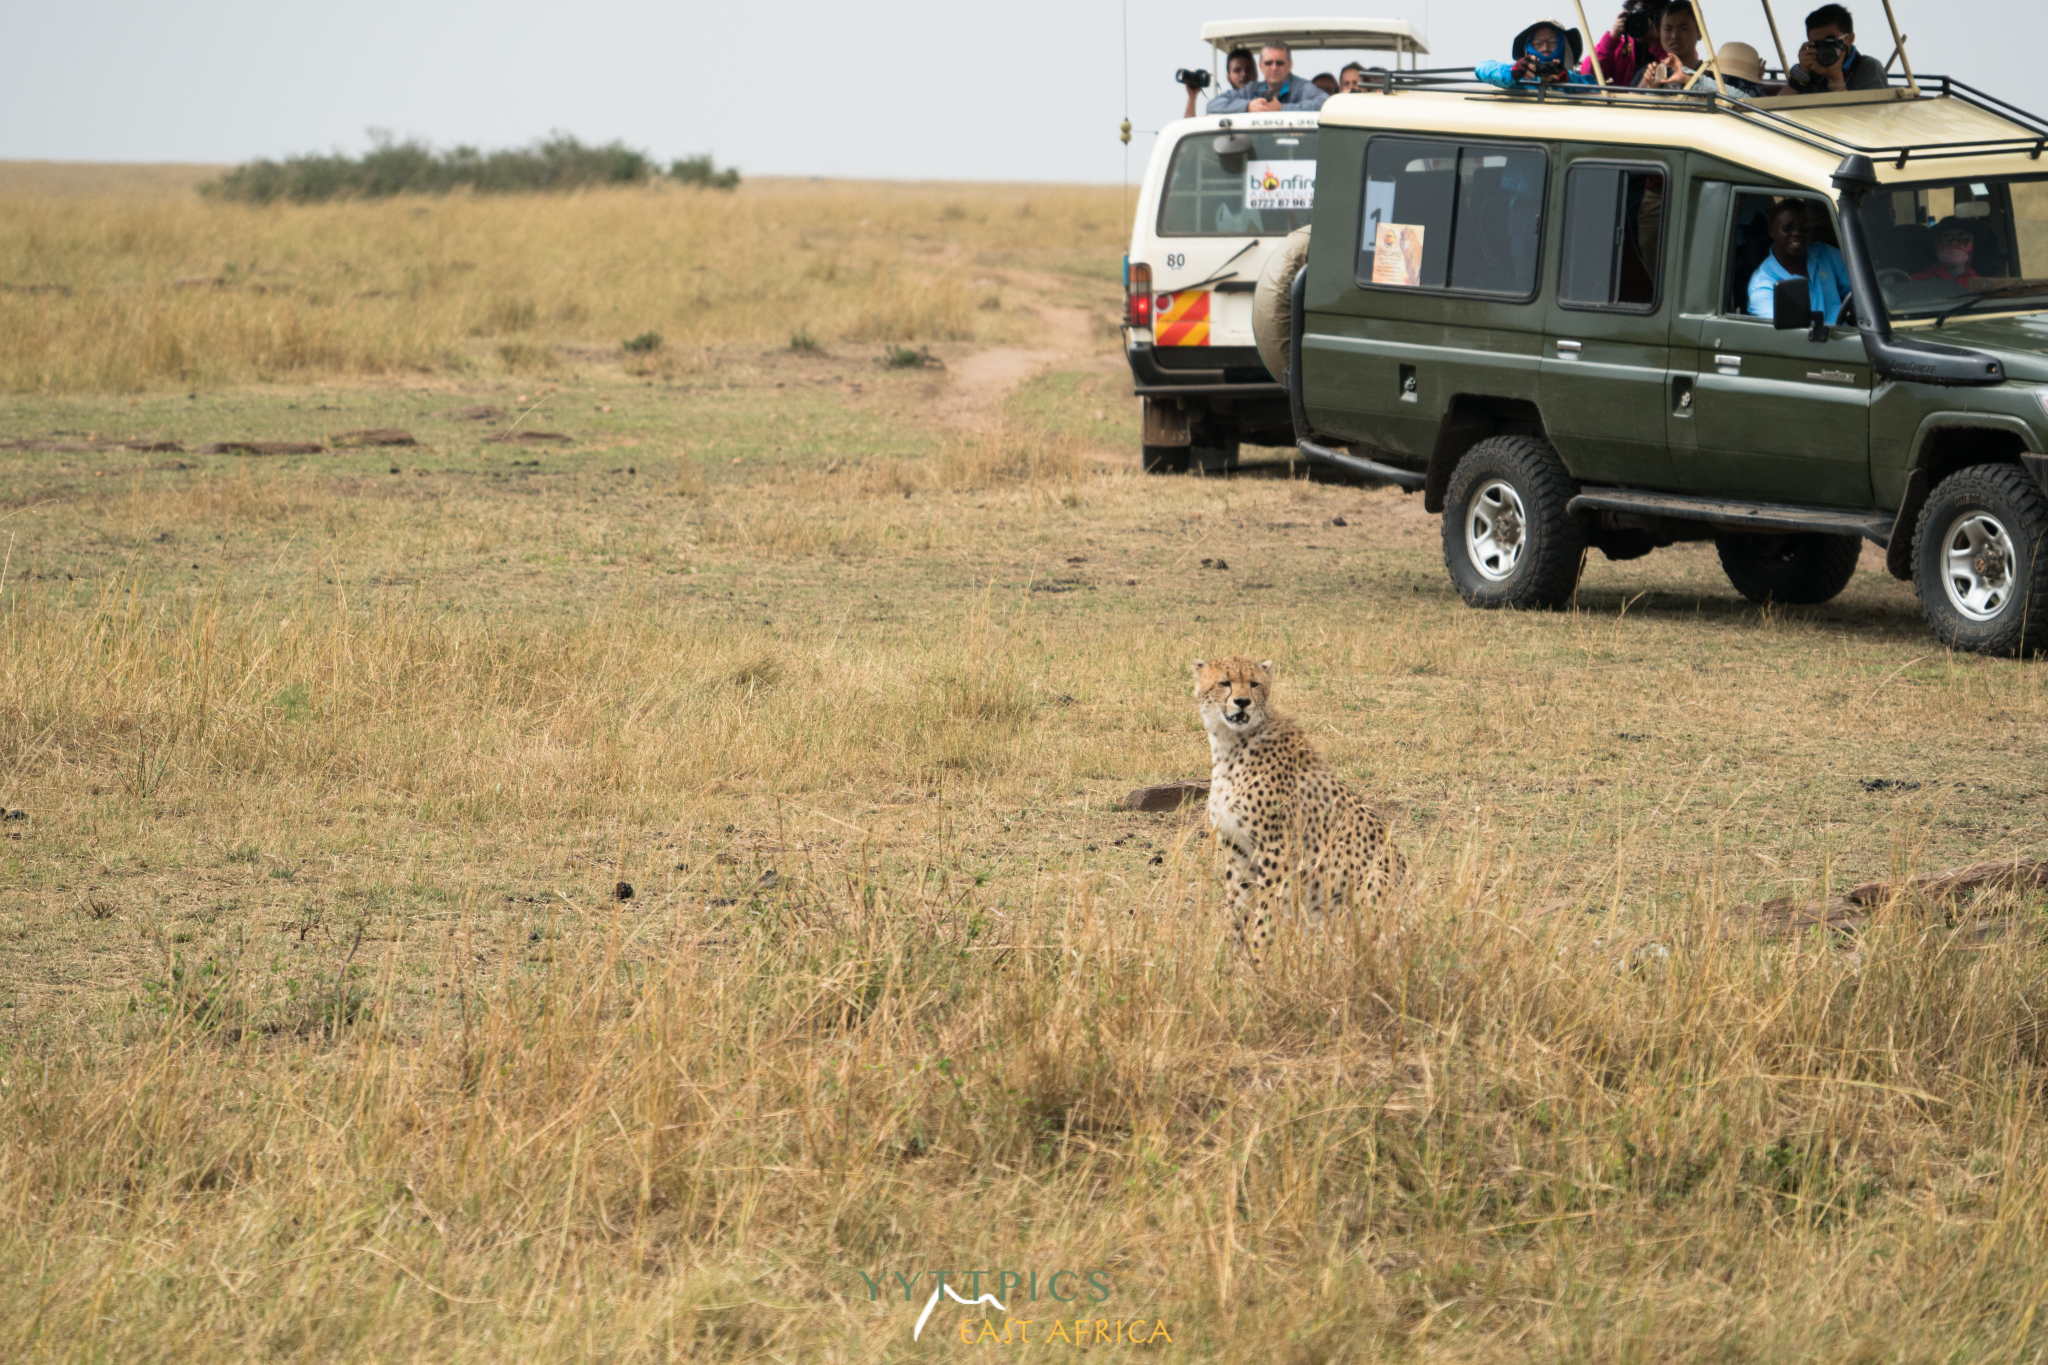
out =
[[[2048,176],[1876,190],[1864,235],[1892,317],[2048,307]]]

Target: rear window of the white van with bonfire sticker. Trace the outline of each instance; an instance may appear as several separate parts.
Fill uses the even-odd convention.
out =
[[[1249,141],[1225,156],[1221,141]],[[1174,147],[1159,196],[1161,237],[1266,237],[1309,225],[1315,129],[1190,133]]]

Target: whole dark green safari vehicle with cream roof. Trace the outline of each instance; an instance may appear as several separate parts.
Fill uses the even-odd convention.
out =
[[[1303,454],[1419,489],[1473,606],[1679,540],[1815,604],[1870,540],[1944,643],[2048,647],[2048,123],[1890,80],[1329,100],[1307,264],[1260,299]],[[1847,289],[1765,268],[1794,233]]]

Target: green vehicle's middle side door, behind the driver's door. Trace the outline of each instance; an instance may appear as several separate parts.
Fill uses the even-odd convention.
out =
[[[1673,162],[1567,147],[1556,289],[1546,305],[1544,432],[1589,483],[1675,489],[1665,241]]]

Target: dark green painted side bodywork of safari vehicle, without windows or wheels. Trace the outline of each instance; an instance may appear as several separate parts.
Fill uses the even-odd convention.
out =
[[[1817,196],[1810,188],[1686,147],[1530,139],[1520,145],[1548,156],[1538,295],[1386,289],[1354,276],[1370,137],[1352,127],[1321,133],[1298,360],[1317,432],[1419,469],[1446,458],[1446,417],[1460,403],[1516,403],[1540,413],[1583,483],[1882,512],[1911,497],[1937,434],[1985,432],[2001,450],[2015,440],[2048,450],[2048,389],[2036,387],[2048,385],[2048,313],[1923,332],[2005,364],[2005,385],[1956,389],[1878,379],[1855,327],[1810,342],[1726,309],[1739,196]],[[1595,160],[1667,170],[1651,311],[1556,299],[1567,172]],[[1833,201],[1827,209],[1839,215]],[[1577,358],[1559,342],[1577,342]]]

